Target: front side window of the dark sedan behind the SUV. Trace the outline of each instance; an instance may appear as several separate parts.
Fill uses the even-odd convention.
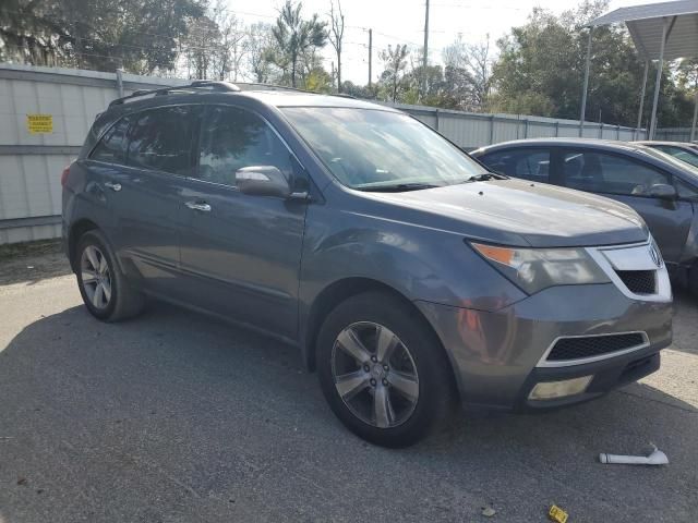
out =
[[[599,151],[567,151],[563,172],[568,187],[591,193],[643,196],[659,183],[671,184],[670,177],[651,166]]]

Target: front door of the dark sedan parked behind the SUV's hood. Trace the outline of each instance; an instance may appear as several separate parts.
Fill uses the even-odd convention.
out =
[[[655,184],[673,184],[672,175],[650,163],[598,149],[561,149],[565,186],[601,194],[633,207],[647,222],[669,263],[678,263],[693,219],[693,206],[683,199],[649,195]]]

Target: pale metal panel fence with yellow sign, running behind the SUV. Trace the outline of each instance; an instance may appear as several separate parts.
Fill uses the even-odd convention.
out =
[[[60,235],[60,173],[75,158],[95,115],[109,101],[136,89],[186,82],[0,64],[0,244]],[[390,105],[468,150],[508,139],[579,136],[579,122],[574,120]],[[583,136],[630,141],[642,139],[646,133],[587,123]]]

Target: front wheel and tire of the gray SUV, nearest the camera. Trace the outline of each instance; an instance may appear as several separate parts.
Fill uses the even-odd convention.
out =
[[[450,413],[455,387],[441,342],[417,311],[390,294],[359,294],[329,313],[316,362],[335,415],[372,443],[413,445]]]

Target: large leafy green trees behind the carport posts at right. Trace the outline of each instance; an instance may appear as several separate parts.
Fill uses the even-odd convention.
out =
[[[589,21],[607,11],[606,0],[586,1],[559,16],[534,9],[528,23],[498,40],[493,70],[493,109],[502,112],[578,119]],[[635,126],[643,63],[623,26],[593,31],[586,120]],[[662,125],[687,123],[685,87],[666,66],[660,92]],[[652,78],[652,74],[650,74]],[[648,81],[642,121],[647,125],[654,83]]]

